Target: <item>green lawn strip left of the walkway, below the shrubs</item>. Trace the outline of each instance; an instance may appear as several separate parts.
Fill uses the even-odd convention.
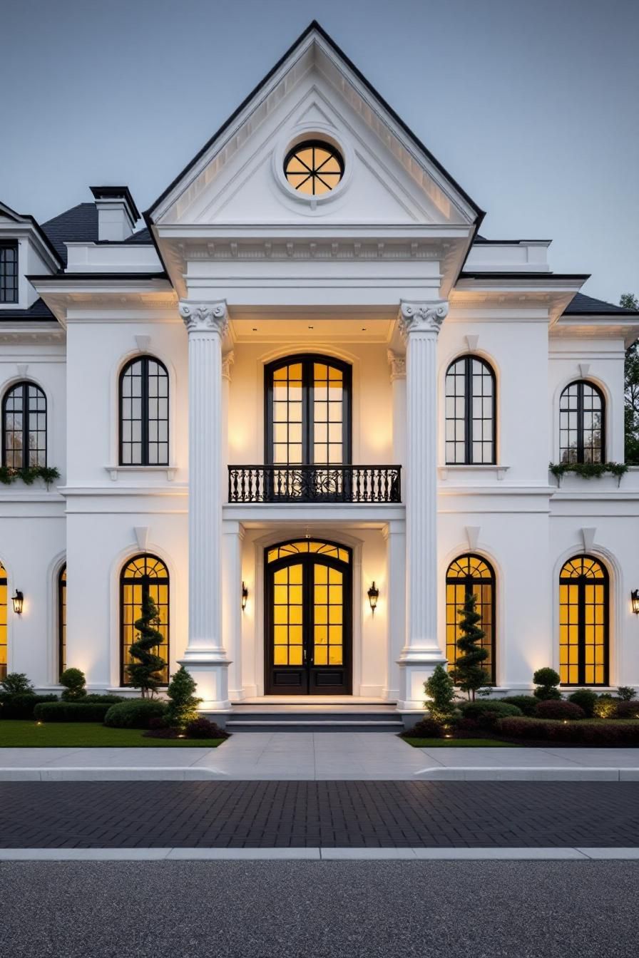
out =
[[[0,748],[216,748],[224,739],[145,739],[137,728],[107,728],[93,721],[38,725],[31,720],[0,721]]]

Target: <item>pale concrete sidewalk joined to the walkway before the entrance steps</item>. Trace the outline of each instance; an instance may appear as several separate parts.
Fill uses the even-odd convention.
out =
[[[3,748],[2,781],[639,781],[639,749],[412,748],[385,733],[246,733],[203,748]]]

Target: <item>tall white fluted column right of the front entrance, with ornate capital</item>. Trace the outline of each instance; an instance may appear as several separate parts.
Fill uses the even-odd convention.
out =
[[[437,635],[437,337],[443,300],[400,304],[406,342],[406,643],[399,707],[422,708],[423,682],[445,661]]]

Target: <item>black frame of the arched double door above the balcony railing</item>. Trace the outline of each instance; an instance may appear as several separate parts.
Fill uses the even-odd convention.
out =
[[[302,365],[302,462],[273,462],[273,374],[283,366],[294,363]],[[327,468],[353,465],[353,367],[350,363],[334,356],[318,353],[298,353],[283,356],[264,366],[264,464],[272,466],[314,466],[313,449],[313,365],[320,363],[338,369],[342,374],[342,462],[319,463]]]

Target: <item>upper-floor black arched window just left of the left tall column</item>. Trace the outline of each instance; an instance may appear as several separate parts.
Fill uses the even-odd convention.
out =
[[[169,465],[169,374],[153,356],[120,374],[120,465]]]

